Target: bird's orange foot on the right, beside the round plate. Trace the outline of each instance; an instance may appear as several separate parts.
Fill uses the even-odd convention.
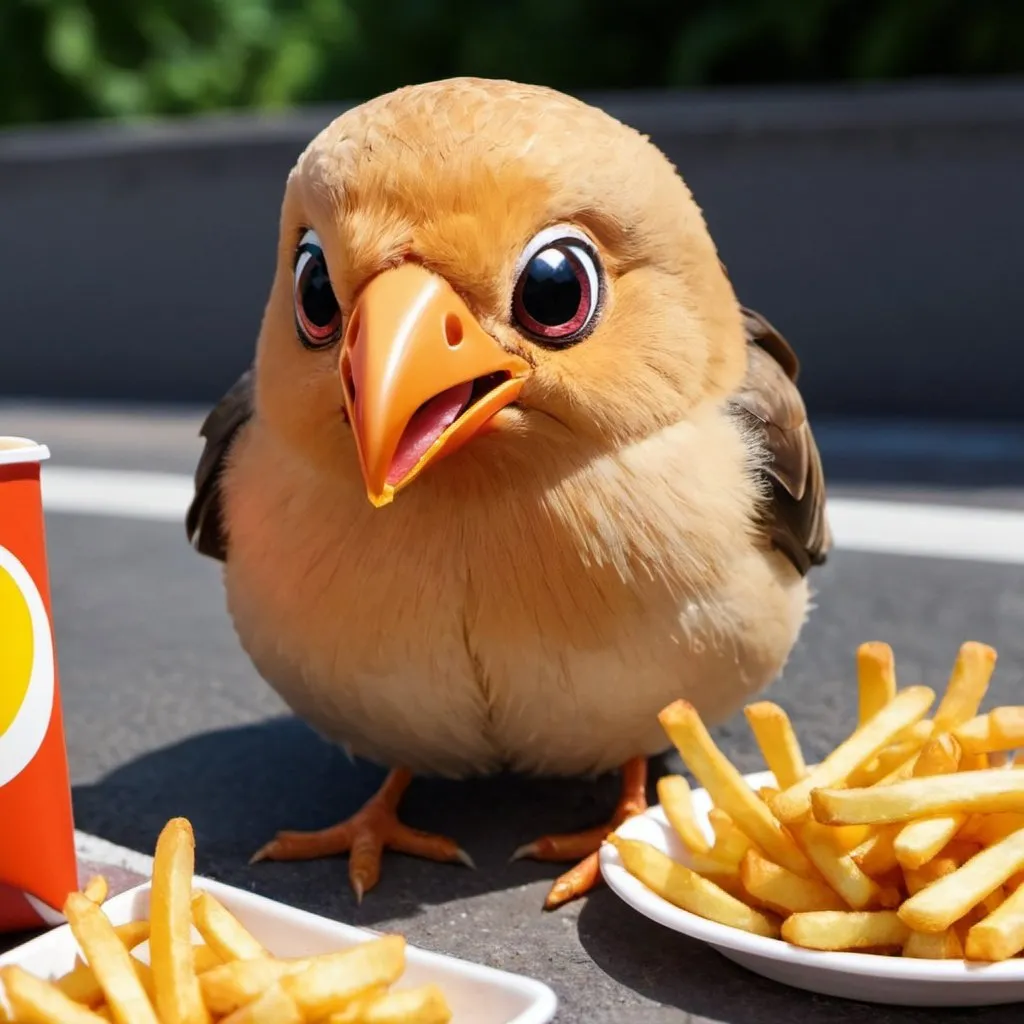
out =
[[[578,860],[579,863],[555,880],[544,907],[553,910],[593,889],[601,878],[598,851],[609,833],[614,831],[627,818],[647,809],[647,759],[634,758],[623,765],[623,794],[611,820],[598,828],[565,833],[561,836],[544,836],[532,843],[520,846],[512,854],[513,860],[529,857],[534,860]]]

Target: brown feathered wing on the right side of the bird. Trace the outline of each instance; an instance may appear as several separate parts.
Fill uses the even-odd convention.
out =
[[[833,541],[821,457],[797,388],[800,360],[760,313],[745,307],[741,311],[750,361],[732,401],[760,431],[770,456],[763,472],[771,500],[762,525],[772,546],[806,575],[812,565],[825,561]]]

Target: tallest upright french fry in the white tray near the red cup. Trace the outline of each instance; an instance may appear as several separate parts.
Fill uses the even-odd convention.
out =
[[[171,818],[157,840],[150,892],[150,959],[163,1024],[210,1024],[191,947],[196,841],[185,818]]]

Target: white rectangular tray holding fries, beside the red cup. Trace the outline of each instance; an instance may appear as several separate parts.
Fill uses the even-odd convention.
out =
[[[254,893],[197,877],[197,889],[216,896],[276,956],[311,956],[366,942],[375,933],[342,925]],[[115,925],[148,916],[150,883],[103,904]],[[196,936],[199,941],[199,935]],[[138,946],[148,959],[148,943]],[[78,944],[67,925],[0,955],[0,967],[18,964],[40,977],[54,978],[74,966]],[[547,1024],[555,1016],[555,993],[532,978],[470,964],[410,945],[406,971],[396,988],[436,982],[452,1007],[454,1024]],[[0,999],[0,1002],[3,1000]]]

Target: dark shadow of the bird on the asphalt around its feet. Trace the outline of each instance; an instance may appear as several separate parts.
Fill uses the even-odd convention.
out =
[[[671,761],[671,759],[670,759]],[[664,765],[654,761],[651,779]],[[352,762],[291,718],[204,733],[146,754],[74,792],[76,826],[152,853],[168,818],[196,830],[197,870],[353,924],[416,913],[486,892],[553,880],[567,865],[520,860],[516,847],[548,833],[607,819],[615,775],[593,780],[500,776],[450,781],[416,778],[401,804],[414,827],[451,836],[476,863],[436,864],[385,853],[381,880],[357,905],[345,858],[261,862],[250,856],[281,828],[322,828],[352,814],[384,771]],[[538,893],[538,910],[544,888]]]

